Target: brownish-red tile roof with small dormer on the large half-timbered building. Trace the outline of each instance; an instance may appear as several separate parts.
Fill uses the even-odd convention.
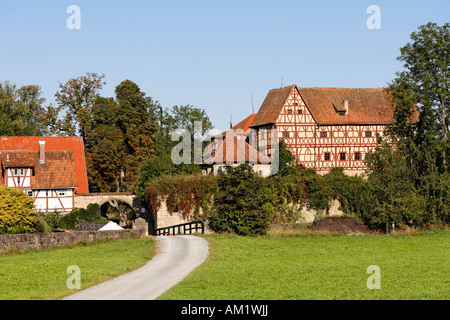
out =
[[[386,124],[392,121],[393,107],[383,88],[297,88],[296,85],[270,90],[252,127],[275,123],[292,90],[298,90],[319,124]],[[348,113],[340,116],[343,102]],[[338,112],[339,111],[339,112]]]

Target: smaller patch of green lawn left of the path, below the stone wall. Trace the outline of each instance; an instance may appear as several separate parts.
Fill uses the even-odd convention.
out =
[[[67,288],[76,265],[81,288],[144,265],[154,255],[152,238],[104,240],[66,248],[0,256],[0,300],[56,299],[75,293]]]

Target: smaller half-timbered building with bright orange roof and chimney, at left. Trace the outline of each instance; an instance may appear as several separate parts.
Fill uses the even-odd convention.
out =
[[[79,137],[0,137],[0,185],[21,189],[35,209],[69,212],[75,194],[88,193]]]

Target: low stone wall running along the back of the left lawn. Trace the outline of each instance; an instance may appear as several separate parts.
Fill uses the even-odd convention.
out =
[[[55,233],[27,233],[0,235],[0,251],[8,249],[43,249],[58,245],[74,244],[81,241],[94,241],[106,238],[129,238],[143,236],[146,230],[124,229],[111,231],[76,231]]]

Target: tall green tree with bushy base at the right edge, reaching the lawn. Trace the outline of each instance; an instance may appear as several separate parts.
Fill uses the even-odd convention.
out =
[[[404,70],[390,84],[390,143],[366,157],[372,222],[386,223],[386,230],[446,223],[450,215],[450,25],[420,26],[400,53]]]

